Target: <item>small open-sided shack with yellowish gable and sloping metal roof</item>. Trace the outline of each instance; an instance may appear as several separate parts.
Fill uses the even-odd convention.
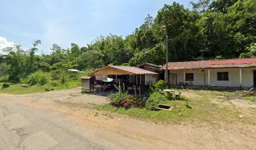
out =
[[[90,74],[93,74],[97,81],[112,78],[114,81],[113,83],[107,83],[108,87],[114,87],[114,84],[117,86],[124,84],[125,89],[135,91],[135,94],[137,93],[136,91],[139,91],[139,95],[141,95],[141,92],[146,87],[156,83],[159,79],[159,73],[131,66],[105,66]],[[105,84],[102,82],[97,84],[100,88],[105,87]]]

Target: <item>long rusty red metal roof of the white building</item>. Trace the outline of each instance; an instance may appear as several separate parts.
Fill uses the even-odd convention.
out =
[[[184,61],[168,63],[169,70],[207,68],[248,68],[256,67],[256,58],[221,59],[208,61]],[[166,69],[164,64],[162,69]]]

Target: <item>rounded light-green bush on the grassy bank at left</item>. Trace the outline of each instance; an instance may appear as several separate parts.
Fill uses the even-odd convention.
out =
[[[36,71],[33,74],[30,74],[28,76],[28,79],[26,79],[26,83],[29,85],[35,85],[35,84],[46,84],[50,81],[50,76],[48,73],[44,73],[43,71]]]

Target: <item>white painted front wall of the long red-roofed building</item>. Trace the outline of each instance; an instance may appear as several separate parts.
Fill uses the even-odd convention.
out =
[[[250,88],[253,86],[253,70],[256,68],[242,68],[242,87]],[[217,72],[228,72],[229,81],[217,81]],[[183,70],[171,70],[170,74],[177,74],[177,83],[183,83]],[[189,69],[186,73],[194,73],[194,81],[186,81],[195,86],[208,85],[208,69]],[[223,68],[223,69],[210,69],[210,84],[211,86],[229,86],[239,87],[240,76],[239,68]]]

